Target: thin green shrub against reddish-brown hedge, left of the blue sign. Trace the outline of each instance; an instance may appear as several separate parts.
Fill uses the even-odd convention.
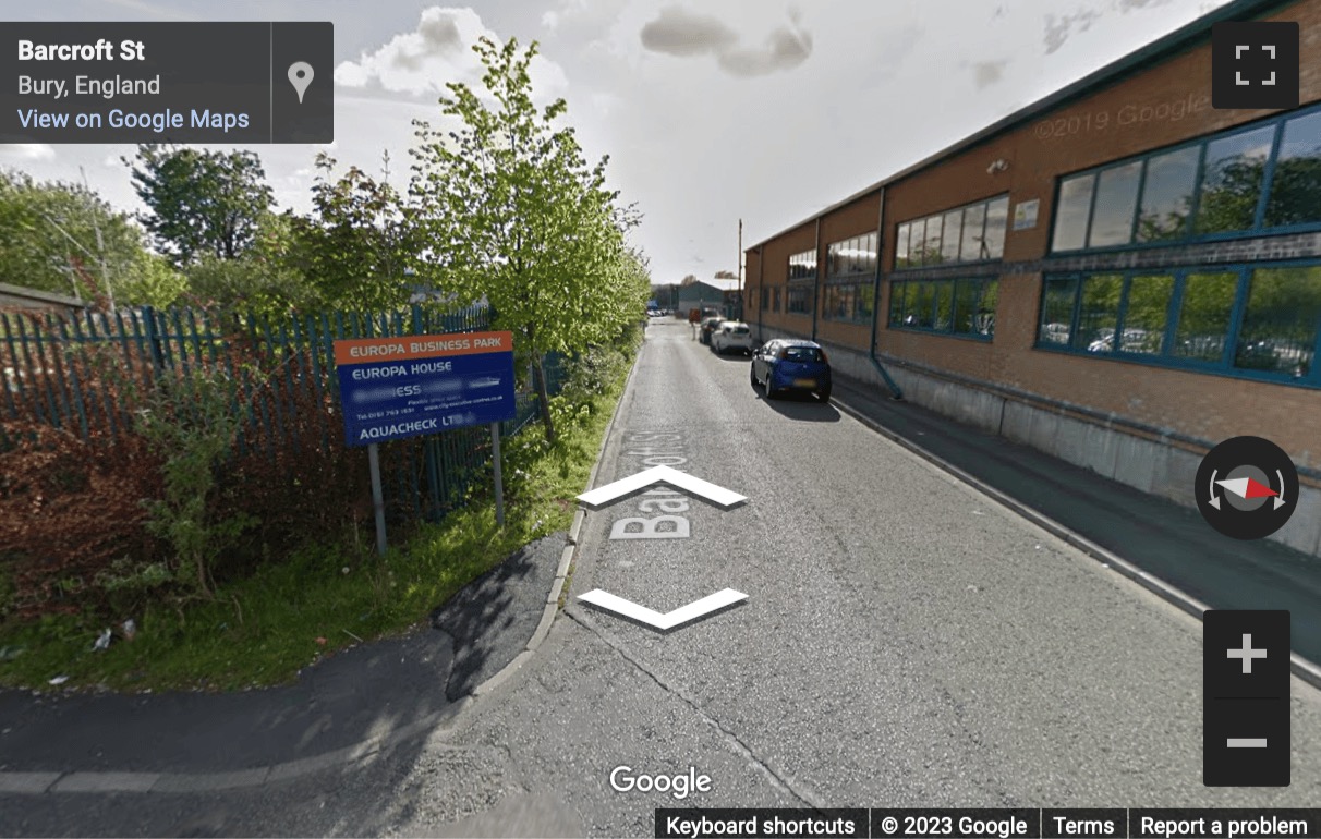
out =
[[[215,559],[248,527],[250,515],[215,517],[218,470],[242,425],[236,383],[219,369],[164,377],[147,396],[140,433],[164,456],[164,498],[147,502],[147,529],[170,544],[176,581],[210,599]]]

